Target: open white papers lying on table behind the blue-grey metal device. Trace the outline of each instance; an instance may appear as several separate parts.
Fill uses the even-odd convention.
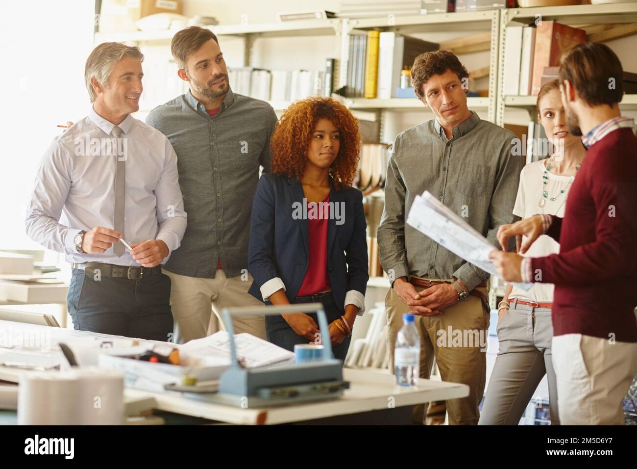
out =
[[[293,352],[245,332],[234,334],[234,345],[238,358],[247,368],[294,362]],[[191,340],[180,345],[179,351],[180,354],[200,359],[202,364],[208,366],[230,364],[230,341],[225,331]]]

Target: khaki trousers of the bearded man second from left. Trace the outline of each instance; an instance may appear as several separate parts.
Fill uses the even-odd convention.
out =
[[[214,334],[223,325],[223,308],[236,306],[263,306],[263,302],[248,294],[252,276],[247,274],[226,278],[224,271],[217,271],[215,278],[189,277],[163,271],[171,279],[170,306],[175,318],[175,343],[186,343]],[[212,313],[215,313],[214,315]],[[234,333],[248,332],[266,339],[264,316],[233,318]],[[225,327],[223,327],[225,329]]]

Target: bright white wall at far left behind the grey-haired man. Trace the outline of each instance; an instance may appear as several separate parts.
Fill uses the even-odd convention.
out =
[[[94,3],[0,2],[2,111],[0,249],[38,245],[24,234],[24,210],[56,124],[86,115],[84,63],[92,50]]]

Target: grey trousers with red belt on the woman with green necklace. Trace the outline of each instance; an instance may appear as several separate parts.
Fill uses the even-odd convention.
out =
[[[500,350],[478,425],[517,425],[545,374],[551,424],[559,425],[551,310],[512,302],[497,323],[497,337]]]

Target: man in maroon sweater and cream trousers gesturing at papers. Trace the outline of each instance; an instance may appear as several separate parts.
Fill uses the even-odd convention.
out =
[[[555,284],[553,362],[567,425],[624,424],[622,399],[637,371],[637,138],[633,119],[619,112],[623,73],[603,44],[578,45],[562,58],[569,131],[584,135],[588,148],[564,218],[536,215],[497,234],[503,249],[516,236],[525,253],[546,233],[560,252],[490,254],[507,281]]]

